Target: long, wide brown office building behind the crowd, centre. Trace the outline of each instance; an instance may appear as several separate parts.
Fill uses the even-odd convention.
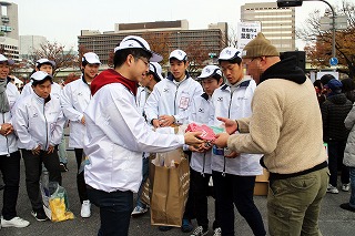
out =
[[[155,21],[140,23],[116,23],[114,31],[103,32],[82,30],[78,37],[79,47],[84,47],[89,51],[95,52],[102,63],[106,64],[109,53],[113,51],[115,45],[126,35],[146,37],[151,39],[164,39],[166,48],[164,53],[169,53],[174,49],[186,49],[192,43],[199,41],[199,47],[207,51],[206,59],[211,53],[219,54],[227,42],[227,23],[219,22],[210,24],[207,29],[189,30],[186,20],[178,21]],[[149,41],[149,40],[148,40]]]

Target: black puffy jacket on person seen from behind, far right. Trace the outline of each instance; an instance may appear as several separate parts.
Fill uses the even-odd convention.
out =
[[[346,141],[349,131],[344,120],[352,107],[353,103],[344,93],[333,93],[325,100],[321,106],[324,142]]]

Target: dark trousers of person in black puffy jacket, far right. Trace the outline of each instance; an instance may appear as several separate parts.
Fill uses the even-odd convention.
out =
[[[329,184],[334,187],[337,186],[337,171],[341,167],[342,184],[349,183],[349,170],[343,164],[344,150],[346,141],[329,141],[328,142],[328,168],[331,172]]]

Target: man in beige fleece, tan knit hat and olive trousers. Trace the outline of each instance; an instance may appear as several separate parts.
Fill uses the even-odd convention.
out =
[[[225,122],[215,144],[237,153],[262,153],[270,171],[270,235],[322,235],[321,202],[328,168],[323,147],[322,115],[313,84],[296,59],[280,60],[262,33],[243,51],[247,73],[258,84],[252,116]]]

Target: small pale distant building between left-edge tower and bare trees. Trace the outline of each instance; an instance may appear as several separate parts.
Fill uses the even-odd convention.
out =
[[[41,44],[47,42],[45,37],[41,35],[20,35],[20,55],[28,59]]]

